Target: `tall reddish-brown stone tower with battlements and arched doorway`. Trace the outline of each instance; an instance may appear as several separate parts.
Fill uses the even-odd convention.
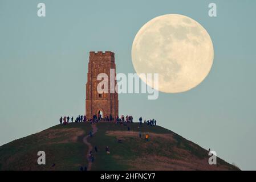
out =
[[[116,77],[115,53],[111,51],[90,52],[86,83],[86,117],[88,119],[95,114],[98,116],[100,111],[103,117],[112,115],[115,118],[118,115],[118,93],[110,92],[111,69],[115,69]],[[97,92],[97,85],[101,82],[97,80],[97,75],[100,73],[108,76],[108,93]]]

